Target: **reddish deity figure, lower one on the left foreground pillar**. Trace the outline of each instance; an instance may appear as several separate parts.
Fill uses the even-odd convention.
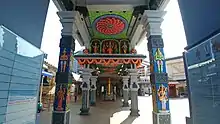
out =
[[[62,85],[60,85],[59,91],[57,92],[57,101],[58,101],[58,106],[57,106],[57,110],[58,111],[63,111],[63,100],[65,99],[65,93],[66,90],[65,88],[62,89]]]

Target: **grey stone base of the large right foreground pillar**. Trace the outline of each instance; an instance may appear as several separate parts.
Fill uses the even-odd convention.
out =
[[[170,113],[155,113],[153,115],[153,124],[171,124]]]

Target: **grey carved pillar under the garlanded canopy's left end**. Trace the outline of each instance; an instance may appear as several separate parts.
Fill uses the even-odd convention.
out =
[[[89,92],[90,92],[91,69],[84,68],[82,74],[82,108],[80,115],[89,115]]]

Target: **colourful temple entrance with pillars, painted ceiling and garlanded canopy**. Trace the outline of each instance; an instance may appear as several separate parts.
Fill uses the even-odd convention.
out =
[[[112,5],[108,9],[88,5],[58,12],[63,30],[56,75],[54,123],[58,121],[56,117],[61,116],[61,111],[63,118],[70,116],[66,99],[73,58],[82,72],[80,115],[90,114],[90,106],[96,106],[99,94],[103,101],[115,101],[120,98],[117,96],[123,96],[122,106],[131,108],[130,116],[139,116],[139,68],[146,56],[137,54],[135,46],[147,38],[153,122],[170,124],[168,77],[160,29],[165,12],[156,10],[153,4],[157,2],[123,10]],[[75,40],[85,46],[82,52],[74,53]],[[65,119],[60,124],[63,123]]]

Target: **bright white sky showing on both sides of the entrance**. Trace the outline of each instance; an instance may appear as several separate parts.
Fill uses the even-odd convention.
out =
[[[56,67],[58,65],[59,42],[62,29],[59,17],[56,14],[57,11],[53,2],[50,2],[41,46],[41,49],[48,54],[47,61]],[[166,58],[180,56],[186,46],[186,37],[177,0],[170,0],[165,11],[167,11],[167,14],[164,16],[161,26],[165,44],[165,56]],[[76,43],[75,50],[78,51],[80,49],[80,45]],[[147,40],[144,40],[137,46],[137,52],[148,55]]]

